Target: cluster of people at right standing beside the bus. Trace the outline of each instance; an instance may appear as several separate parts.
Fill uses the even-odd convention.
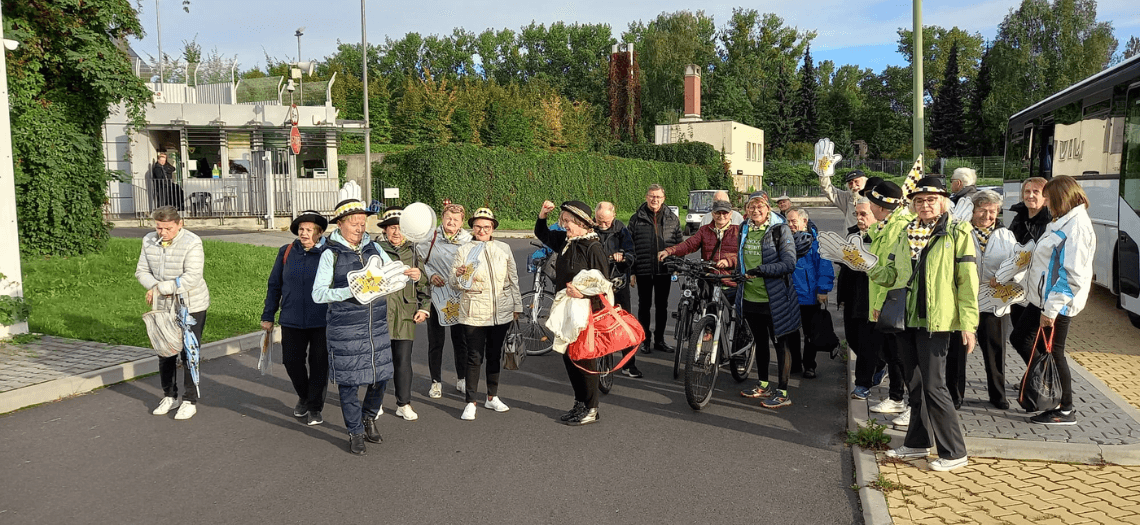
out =
[[[1024,181],[1009,228],[999,219],[1002,196],[978,190],[970,169],[952,174],[950,190],[935,175],[905,195],[894,182],[860,171],[846,175],[846,190],[829,179],[821,177],[821,187],[844,213],[847,232],[878,259],[870,268],[840,269],[837,301],[856,354],[852,396],[868,399],[871,387],[889,377],[888,397],[870,410],[897,415],[891,423],[906,428],[904,444],[888,457],[926,457],[935,446],[931,469],[968,464],[958,410],[967,354],[975,346],[982,348],[988,402],[1004,410],[1005,342],[1026,364],[1051,345],[1060,404],[1029,420],[1076,423],[1065,338],[1089,295],[1096,237],[1089,198],[1075,179]],[[1031,241],[1035,245],[1027,246]],[[999,272],[1023,249],[1033,249],[1027,268]],[[1010,297],[1017,287],[1024,300],[993,300]],[[902,314],[895,319],[888,311]]]

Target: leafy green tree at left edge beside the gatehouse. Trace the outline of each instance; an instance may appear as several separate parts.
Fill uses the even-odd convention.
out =
[[[107,181],[103,125],[123,104],[145,124],[152,93],[117,46],[142,34],[129,0],[3,0],[13,164],[21,248],[78,255],[101,249]]]

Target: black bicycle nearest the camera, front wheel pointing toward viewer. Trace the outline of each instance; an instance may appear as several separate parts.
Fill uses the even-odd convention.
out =
[[[718,286],[720,279],[742,282],[743,276],[711,272],[714,266],[706,261],[668,257],[666,263],[677,274],[705,285],[698,286],[699,293],[692,295],[691,310],[697,320],[689,328],[684,346],[677,347],[676,358],[685,367],[685,400],[693,410],[701,410],[712,397],[720,367],[728,367],[733,379],[741,383],[756,361],[751,330]],[[720,347],[722,339],[732,342],[727,352]]]

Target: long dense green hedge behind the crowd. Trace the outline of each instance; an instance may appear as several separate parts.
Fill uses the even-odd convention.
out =
[[[543,200],[610,200],[625,220],[645,202],[645,188],[665,187],[669,205],[687,205],[689,190],[708,189],[709,169],[587,153],[519,151],[472,145],[421,146],[389,154],[373,170],[373,188],[400,188],[400,204],[437,210],[445,198],[487,206],[505,219],[530,219]],[[383,181],[381,183],[381,181]],[[378,198],[378,197],[377,197]]]

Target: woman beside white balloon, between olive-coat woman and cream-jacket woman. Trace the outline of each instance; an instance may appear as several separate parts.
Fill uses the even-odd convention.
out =
[[[467,243],[471,243],[471,233],[463,229],[463,216],[466,211],[458,204],[448,204],[443,207],[443,216],[439,227],[432,232],[427,240],[416,245],[416,253],[423,260],[424,271],[431,289],[431,312],[427,315],[427,372],[431,375],[431,388],[427,396],[439,399],[443,396],[443,343],[446,343],[447,330],[451,333],[451,350],[455,361],[455,388],[459,392],[467,392],[467,339],[463,334],[463,325],[458,322],[445,325],[440,313],[447,307],[446,298],[449,294],[442,293],[447,284],[448,276],[451,274],[451,264],[455,262],[455,252]]]

